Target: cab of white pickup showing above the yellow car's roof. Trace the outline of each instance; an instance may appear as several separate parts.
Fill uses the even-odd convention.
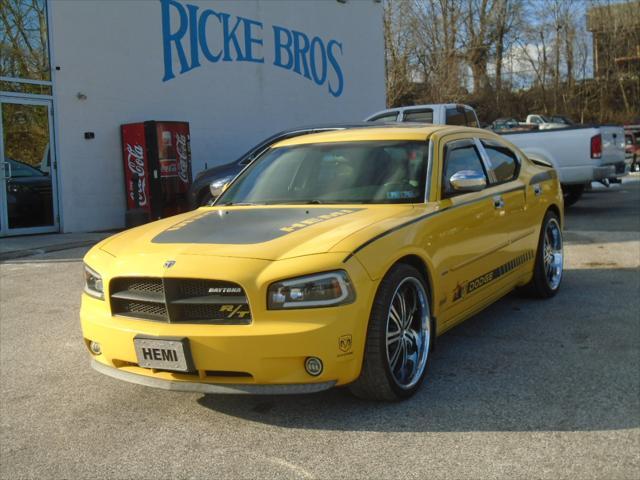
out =
[[[480,127],[476,111],[469,105],[457,103],[389,108],[370,115],[365,118],[365,122],[417,122]]]

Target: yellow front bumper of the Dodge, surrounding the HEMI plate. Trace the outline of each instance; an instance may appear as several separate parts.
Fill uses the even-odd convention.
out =
[[[343,253],[333,256],[335,260],[344,258]],[[335,265],[333,256],[331,261]],[[307,259],[309,270],[326,271],[322,266],[326,257],[314,255]],[[211,261],[216,262],[219,271],[233,270],[225,268],[226,262],[231,263],[231,260]],[[282,260],[273,262],[272,266],[279,271],[291,271],[296,262],[300,268],[300,261]],[[198,269],[203,270],[203,260],[195,256],[191,259],[182,257],[178,264],[189,262],[200,265]],[[359,262],[350,262],[347,268],[356,290],[355,302],[300,310],[267,310],[265,289],[271,280],[258,284],[257,277],[253,277],[251,284],[249,278],[229,275],[226,280],[245,286],[247,291],[252,314],[248,325],[166,323],[113,316],[108,299],[99,300],[83,294],[82,332],[87,347],[90,342],[100,344],[101,353],[92,353],[96,370],[134,383],[203,393],[324,390],[354,381],[362,365],[367,323],[377,284]],[[187,338],[195,371],[178,373],[140,367],[134,348],[134,338],[138,335]],[[322,360],[320,375],[307,373],[304,365],[308,357]]]

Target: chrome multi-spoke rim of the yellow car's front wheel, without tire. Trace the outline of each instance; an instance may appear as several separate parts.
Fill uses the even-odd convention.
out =
[[[391,298],[387,314],[387,365],[396,385],[410,389],[420,381],[427,365],[431,323],[429,302],[422,282],[407,277]]]

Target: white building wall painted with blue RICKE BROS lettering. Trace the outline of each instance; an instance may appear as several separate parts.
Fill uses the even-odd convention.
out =
[[[276,131],[360,121],[385,106],[382,4],[374,0],[55,0],[49,8],[65,232],[124,226],[123,123],[188,121],[197,173],[205,163],[211,167],[234,160]],[[193,26],[197,31],[204,25],[205,32],[203,40],[194,36],[200,66],[184,73],[177,42],[170,44],[175,76],[165,81],[171,74],[164,65],[163,8],[170,19],[165,34],[178,36],[181,26],[185,31],[180,45],[187,67]],[[239,49],[231,35],[238,22]],[[249,57],[247,26],[254,61],[239,61]],[[276,48],[274,26],[283,29],[278,38],[285,47]],[[293,30],[309,43],[319,38],[313,43],[317,80],[324,80],[322,50],[331,50],[324,55],[327,78],[321,84],[302,75],[302,53],[301,74],[293,70],[295,64],[292,69],[274,64],[279,51],[280,64],[287,66],[288,38],[292,51],[296,42],[304,50],[304,36]],[[201,42],[211,55],[220,53],[220,60],[208,61]],[[263,63],[257,63],[261,58]],[[305,58],[312,77],[308,54]],[[85,132],[94,132],[95,138],[86,140]]]

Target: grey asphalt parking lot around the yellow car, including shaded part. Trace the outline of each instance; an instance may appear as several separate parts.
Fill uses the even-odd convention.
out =
[[[2,478],[640,478],[640,177],[567,212],[558,296],[439,339],[412,399],[203,396],[94,372],[81,256],[0,265]]]

